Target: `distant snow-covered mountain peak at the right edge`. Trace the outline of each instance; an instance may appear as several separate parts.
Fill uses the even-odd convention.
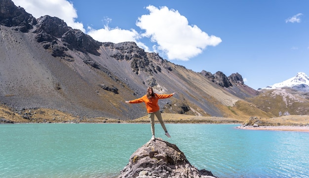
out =
[[[307,90],[309,88],[309,77],[304,72],[298,72],[295,77],[262,89],[278,89],[282,87],[297,88],[300,90],[306,88]]]

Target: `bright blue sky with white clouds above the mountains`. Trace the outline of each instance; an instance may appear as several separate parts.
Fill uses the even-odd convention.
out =
[[[309,75],[308,0],[13,0],[101,42],[135,41],[195,72],[253,89]]]

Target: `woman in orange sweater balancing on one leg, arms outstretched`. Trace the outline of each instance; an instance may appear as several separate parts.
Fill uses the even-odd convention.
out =
[[[167,137],[171,137],[169,135],[169,133],[167,132],[166,127],[164,125],[164,122],[162,120],[160,108],[158,106],[158,100],[172,97],[174,94],[175,94],[175,92],[172,93],[172,94],[156,94],[156,93],[154,93],[154,90],[153,90],[152,87],[148,87],[147,93],[144,96],[142,96],[138,99],[135,99],[135,100],[125,101],[126,103],[142,103],[142,102],[145,103],[147,113],[148,113],[148,117],[149,117],[150,123],[151,123],[151,132],[153,134],[152,140],[154,140],[154,115],[159,120],[163,130],[165,131],[165,135]]]

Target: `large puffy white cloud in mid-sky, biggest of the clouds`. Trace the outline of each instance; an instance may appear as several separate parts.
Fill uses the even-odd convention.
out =
[[[197,26],[190,26],[187,18],[177,10],[160,9],[149,5],[148,15],[139,17],[136,25],[145,33],[144,37],[151,38],[157,43],[154,50],[163,51],[168,59],[189,60],[202,53],[207,46],[216,46],[222,42],[221,38],[209,36]]]

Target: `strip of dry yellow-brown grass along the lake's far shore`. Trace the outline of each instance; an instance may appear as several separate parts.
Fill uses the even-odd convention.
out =
[[[231,108],[230,108],[231,109]],[[232,109],[231,109],[232,110]],[[239,111],[234,111],[239,112]],[[25,119],[25,116],[28,119]],[[149,118],[145,115],[142,118],[133,120],[120,120],[110,118],[76,118],[68,113],[63,113],[58,110],[51,110],[46,108],[22,110],[18,113],[12,111],[10,108],[0,105],[0,118],[11,120],[13,122],[89,122],[89,123],[149,123]],[[162,118],[165,123],[244,123],[244,118],[235,119],[229,117],[205,117],[192,116],[181,114],[162,113]],[[283,116],[277,118],[263,118],[256,117],[261,121],[261,125],[308,125],[309,115],[304,116]],[[249,119],[249,118],[247,118]],[[157,119],[155,119],[157,122]]]

